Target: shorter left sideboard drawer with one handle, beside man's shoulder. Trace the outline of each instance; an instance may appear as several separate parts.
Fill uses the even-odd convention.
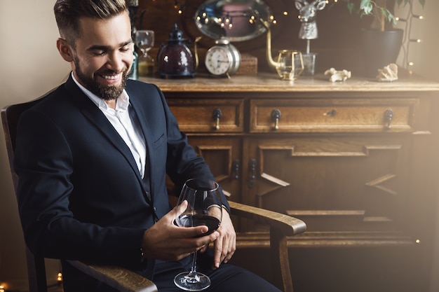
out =
[[[243,99],[167,99],[183,132],[243,132]]]

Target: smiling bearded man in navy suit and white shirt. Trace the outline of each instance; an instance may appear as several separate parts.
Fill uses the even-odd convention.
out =
[[[278,291],[227,262],[236,249],[222,194],[220,227],[179,228],[166,175],[181,187],[214,179],[180,132],[155,85],[127,80],[133,41],[125,0],[58,0],[57,47],[72,65],[66,83],[22,113],[14,168],[29,249],[62,260],[64,291],[112,291],[65,260],[116,264],[179,291],[176,274],[200,251],[207,291]],[[208,250],[210,243],[214,248]]]

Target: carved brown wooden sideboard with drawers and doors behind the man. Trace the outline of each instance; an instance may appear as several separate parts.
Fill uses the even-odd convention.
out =
[[[295,291],[428,291],[438,83],[274,73],[141,80],[163,90],[230,200],[306,222],[288,242]],[[269,244],[264,226],[237,225],[237,260],[254,267]]]

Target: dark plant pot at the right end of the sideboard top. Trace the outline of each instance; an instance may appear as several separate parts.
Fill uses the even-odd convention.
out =
[[[362,29],[365,76],[374,78],[378,74],[378,69],[396,63],[403,43],[403,34],[403,29],[391,29],[384,32],[377,29]]]

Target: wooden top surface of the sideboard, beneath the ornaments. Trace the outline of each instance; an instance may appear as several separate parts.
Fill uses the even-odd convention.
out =
[[[300,76],[295,81],[283,81],[273,73],[217,78],[199,74],[195,78],[144,77],[140,81],[154,83],[163,92],[439,92],[439,83],[419,76],[404,76],[393,82],[367,78],[349,78],[332,83],[328,76]]]

